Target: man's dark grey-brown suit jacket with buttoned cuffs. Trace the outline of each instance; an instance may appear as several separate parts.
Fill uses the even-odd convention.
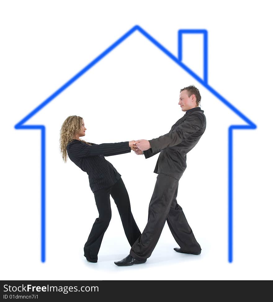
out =
[[[206,117],[200,107],[192,108],[172,125],[171,131],[149,140],[145,158],[160,152],[154,173],[180,179],[186,169],[186,154],[198,143],[206,129]]]

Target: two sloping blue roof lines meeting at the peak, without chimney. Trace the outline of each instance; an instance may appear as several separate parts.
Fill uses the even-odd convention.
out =
[[[214,96],[216,96],[220,101],[222,101],[227,107],[230,108],[235,114],[237,114],[241,119],[243,119],[251,128],[256,128],[256,125],[248,119],[243,113],[241,113],[235,106],[233,106],[229,101],[220,95],[215,89],[208,85],[203,79],[201,79],[194,71],[187,67],[184,63],[180,62],[177,57],[175,57],[170,51],[168,51],[163,45],[161,45],[157,40],[148,34],[143,28],[139,25],[135,25],[128,32],[126,32],[122,37],[115,41],[110,47],[103,51],[98,57],[96,57],[92,62],[85,66],[81,71],[79,71],[75,76],[73,76],[69,81],[67,81],[63,86],[56,90],[50,97],[38,105],[34,110],[32,110],[28,115],[26,115],[19,123],[15,125],[16,129],[22,129],[22,125],[28,121],[33,115],[40,111],[44,106],[46,106],[50,101],[52,101],[56,96],[58,96],[62,91],[64,91],[68,86],[74,83],[80,76],[82,76],[86,71],[88,71],[92,66],[98,63],[102,58],[104,58],[110,51],[117,47],[121,42],[128,38],[133,32],[138,30],[143,34],[150,42],[157,46],[161,51],[163,51],[173,62],[183,68],[188,72],[195,80],[207,88]],[[24,127],[25,128],[25,127]],[[34,128],[33,128],[34,129]],[[36,128],[37,129],[37,128]]]

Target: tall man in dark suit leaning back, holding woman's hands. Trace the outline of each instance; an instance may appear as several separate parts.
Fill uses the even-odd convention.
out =
[[[151,256],[163,230],[165,221],[180,248],[176,252],[199,255],[201,247],[177,204],[178,181],[186,169],[186,154],[198,143],[206,128],[206,117],[200,109],[199,90],[191,85],[181,89],[178,105],[186,114],[171,128],[171,131],[152,140],[137,141],[137,154],[149,158],[160,152],[154,173],[157,180],[152,195],[148,222],[141,236],[132,245],[130,254],[118,266],[145,263]]]

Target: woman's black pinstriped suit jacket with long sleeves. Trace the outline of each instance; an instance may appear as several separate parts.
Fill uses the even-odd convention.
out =
[[[118,155],[131,152],[129,142],[87,145],[80,140],[72,140],[66,147],[72,162],[88,174],[92,192],[108,188],[116,183],[119,172],[104,156]]]

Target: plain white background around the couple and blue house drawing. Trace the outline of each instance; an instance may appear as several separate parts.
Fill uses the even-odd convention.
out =
[[[272,24],[267,3],[1,2],[1,279],[272,279]],[[109,63],[113,65],[102,61],[101,69],[97,68],[96,76],[105,80],[97,80],[100,86],[93,92],[100,97],[97,102],[87,104],[92,94],[88,94],[87,80],[82,77],[74,88],[71,86],[29,121],[47,126],[47,261],[40,262],[40,132],[15,130],[14,125],[136,24],[174,55],[178,29],[207,29],[209,84],[257,124],[256,130],[234,135],[232,264],[227,261],[226,121],[233,122],[234,117],[215,100],[209,101],[210,95],[202,87],[202,108],[208,122],[213,122],[208,123],[204,136],[188,156],[178,193],[178,203],[202,247],[201,255],[175,253],[172,248],[177,244],[165,226],[145,265],[115,266],[113,262],[127,256],[130,247],[112,201],[112,220],[99,262],[90,264],[83,257],[83,244],[97,212],[87,176],[71,162],[61,162],[58,154],[58,134],[65,117],[83,116],[86,140],[102,143],[157,137],[168,132],[181,116],[177,91],[188,83],[181,83],[176,71],[167,72],[164,59],[159,69],[166,71],[164,77],[169,79],[165,87],[165,80],[162,83],[159,79],[161,73],[153,77],[141,71],[141,62],[145,66],[146,61],[153,62],[150,67],[155,70],[160,54],[154,54],[153,60],[146,58],[145,54],[152,54],[154,48],[140,35],[122,45],[117,57],[113,53]],[[124,56],[128,51],[130,55]],[[122,64],[128,71],[126,83],[114,58],[129,64]],[[92,80],[93,74],[89,76]],[[121,77],[123,81],[117,86]],[[69,111],[73,108],[78,112]],[[164,118],[166,110],[168,117]],[[111,127],[105,127],[103,119]],[[215,141],[218,132],[222,137]],[[142,231],[156,179],[156,158],[145,161],[125,154],[109,160],[122,174]]]

